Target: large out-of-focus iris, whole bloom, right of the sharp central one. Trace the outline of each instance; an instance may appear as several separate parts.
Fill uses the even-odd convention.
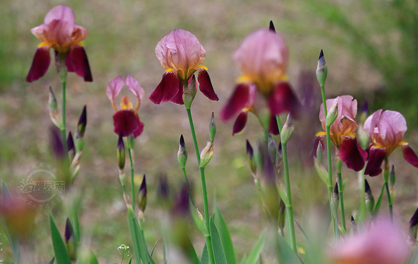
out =
[[[242,41],[233,54],[233,60],[242,72],[231,97],[221,111],[226,121],[238,114],[232,134],[242,131],[247,113],[259,117],[263,108],[270,113],[269,130],[278,134],[276,115],[297,115],[299,101],[286,82],[288,50],[284,39],[273,28],[259,29]]]

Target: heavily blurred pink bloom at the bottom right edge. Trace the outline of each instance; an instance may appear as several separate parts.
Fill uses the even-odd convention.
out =
[[[369,230],[340,240],[329,253],[336,264],[404,263],[408,255],[406,239],[390,220],[378,220]]]

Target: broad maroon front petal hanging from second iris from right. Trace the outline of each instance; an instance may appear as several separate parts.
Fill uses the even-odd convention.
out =
[[[349,169],[358,172],[364,167],[364,161],[367,159],[367,152],[361,149],[357,138],[342,136],[340,158]]]

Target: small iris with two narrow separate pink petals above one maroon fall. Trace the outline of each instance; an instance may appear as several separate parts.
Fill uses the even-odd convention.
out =
[[[125,85],[128,86],[137,98],[137,105],[135,109],[133,108],[132,102],[128,96],[122,96],[122,98],[120,98],[121,109],[118,110],[116,108],[115,98]],[[113,115],[113,131],[117,135],[122,135],[122,137],[133,135],[134,138],[141,135],[144,130],[144,124],[139,121],[138,109],[141,105],[141,100],[144,97],[144,94],[144,89],[138,81],[129,75],[126,77],[124,82],[120,76],[117,76],[107,85],[106,95],[112,103],[112,108],[116,111]]]

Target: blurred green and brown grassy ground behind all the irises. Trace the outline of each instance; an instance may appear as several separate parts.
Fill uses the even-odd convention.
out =
[[[49,147],[52,123],[48,117],[48,86],[60,97],[59,79],[53,65],[39,81],[29,84],[24,78],[38,44],[30,29],[42,23],[45,14],[58,4],[70,6],[76,23],[89,31],[84,43],[94,82],[85,83],[69,74],[67,131],[74,131],[81,108],[87,104],[86,145],[76,186],[84,190],[80,219],[83,243],[95,251],[100,262],[116,261],[117,246],[130,244],[115,161],[117,136],[112,127],[113,110],[105,89],[115,76],[130,74],[149,95],[163,73],[155,58],[155,45],[174,28],[191,31],[206,49],[204,65],[220,98],[213,102],[198,93],[193,103],[200,149],[208,139],[211,113],[219,117],[239,76],[231,59],[233,50],[248,33],[267,27],[270,20],[284,35],[290,51],[290,81],[301,100],[313,110],[297,123],[297,132],[289,143],[297,220],[311,206],[326,202],[326,188],[311,168],[301,166],[315,133],[320,130],[317,120],[320,91],[314,72],[321,48],[328,65],[327,97],[352,94],[360,105],[368,100],[371,111],[389,108],[401,112],[409,125],[406,141],[418,149],[416,1],[5,0],[0,3],[0,177],[11,189],[26,177],[27,165],[53,161]],[[189,150],[186,168],[194,182],[199,208],[202,207],[201,190],[184,107],[174,103],[154,105],[145,98],[139,115],[145,131],[136,142],[135,167],[138,182],[141,174],[147,174],[149,203],[145,233],[152,246],[160,236],[158,219],[162,216],[156,197],[157,176],[168,176],[173,189],[178,189],[183,181],[176,158],[182,133]],[[212,197],[216,196],[240,259],[267,225],[245,160],[245,139],[254,144],[260,129],[254,117],[249,118],[246,130],[234,137],[231,136],[233,121],[217,124],[215,155],[206,170],[208,196],[211,206]],[[416,206],[416,170],[403,161],[400,151],[395,151],[392,160],[397,169],[395,214],[406,227]],[[352,212],[357,208],[356,174],[346,170],[343,177],[349,180],[346,212]],[[382,182],[381,177],[370,179],[375,197]],[[59,208],[55,210],[56,222],[63,230],[64,214],[59,213]],[[35,263],[45,263],[52,257],[47,221],[48,212],[40,212],[32,237],[23,244],[24,257],[34,259]],[[191,230],[200,254],[203,238],[196,229]],[[0,256],[4,254],[6,260],[10,259],[4,232],[0,238],[4,249]],[[160,244],[156,250],[161,254]]]

